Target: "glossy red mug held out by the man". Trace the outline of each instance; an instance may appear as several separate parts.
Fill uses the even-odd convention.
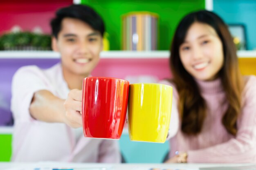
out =
[[[120,139],[129,95],[129,82],[110,77],[83,79],[82,119],[85,137]]]

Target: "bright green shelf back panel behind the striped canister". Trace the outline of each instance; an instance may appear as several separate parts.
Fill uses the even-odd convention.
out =
[[[81,0],[93,7],[106,24],[110,50],[121,50],[121,16],[131,11],[150,11],[159,15],[158,50],[169,50],[173,33],[181,18],[191,11],[205,9],[204,0]]]

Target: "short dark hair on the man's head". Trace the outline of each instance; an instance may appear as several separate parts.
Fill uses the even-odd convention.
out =
[[[103,37],[105,25],[101,16],[91,7],[81,4],[73,4],[69,7],[64,7],[56,12],[56,17],[51,21],[52,35],[58,38],[58,33],[61,31],[61,22],[64,18],[74,18],[89,24],[92,29],[99,31]]]

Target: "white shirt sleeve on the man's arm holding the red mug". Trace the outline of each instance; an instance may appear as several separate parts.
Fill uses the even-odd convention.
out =
[[[49,81],[37,66],[20,68],[13,76],[11,111],[15,121],[34,120],[29,106],[36,91],[49,90]]]

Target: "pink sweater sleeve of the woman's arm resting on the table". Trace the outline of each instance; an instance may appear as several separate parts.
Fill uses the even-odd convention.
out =
[[[188,151],[189,163],[255,163],[256,162],[256,78],[249,79],[243,93],[244,106],[238,119],[234,139]]]

